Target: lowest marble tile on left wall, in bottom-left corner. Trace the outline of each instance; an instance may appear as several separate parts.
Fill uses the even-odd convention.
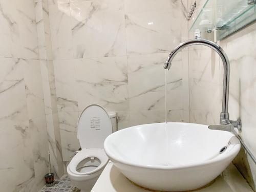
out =
[[[30,191],[34,181],[34,164],[30,144],[28,121],[15,118],[0,120],[2,146],[0,159],[0,184],[3,191]],[[11,153],[10,153],[11,151]],[[15,176],[15,177],[14,177]]]

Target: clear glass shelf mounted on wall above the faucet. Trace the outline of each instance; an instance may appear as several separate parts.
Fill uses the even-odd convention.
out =
[[[248,5],[248,0],[207,0],[189,31],[216,31],[220,40],[254,20],[256,6]]]

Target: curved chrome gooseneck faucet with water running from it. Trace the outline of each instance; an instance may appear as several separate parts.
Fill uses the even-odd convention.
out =
[[[220,115],[220,125],[209,125],[209,129],[211,130],[222,130],[222,131],[229,131],[233,132],[234,127],[237,127],[239,131],[242,129],[241,119],[238,118],[235,121],[229,120],[229,113],[228,113],[228,93],[229,93],[229,73],[230,73],[230,66],[229,60],[227,58],[226,53],[223,49],[215,44],[215,42],[205,40],[205,39],[191,39],[185,42],[182,42],[178,47],[176,47],[172,52],[170,52],[166,62],[164,63],[164,69],[170,69],[172,66],[172,60],[175,55],[181,51],[182,49],[192,46],[192,45],[204,45],[210,47],[211,49],[215,50],[222,59],[224,71],[223,71],[223,96],[222,96],[222,112]]]

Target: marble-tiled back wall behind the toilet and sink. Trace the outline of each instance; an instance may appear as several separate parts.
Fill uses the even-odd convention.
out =
[[[163,63],[187,36],[182,7],[171,0],[49,2],[63,161],[79,148],[76,123],[89,104],[117,112],[118,129],[165,120]],[[180,54],[168,72],[169,121],[189,120],[183,69]]]

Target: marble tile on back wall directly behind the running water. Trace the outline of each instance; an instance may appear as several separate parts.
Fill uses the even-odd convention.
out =
[[[130,110],[164,110],[163,63],[168,54],[127,57]],[[167,77],[167,107],[182,110],[182,62],[178,54]]]

